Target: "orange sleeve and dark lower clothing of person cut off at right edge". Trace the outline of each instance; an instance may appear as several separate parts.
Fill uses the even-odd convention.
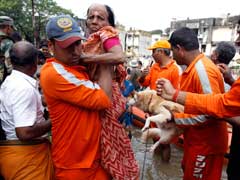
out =
[[[199,95],[187,93],[185,111],[188,113],[204,113],[217,117],[240,115],[240,78],[225,94]],[[240,179],[240,127],[233,125],[230,156],[227,167],[228,179]]]

